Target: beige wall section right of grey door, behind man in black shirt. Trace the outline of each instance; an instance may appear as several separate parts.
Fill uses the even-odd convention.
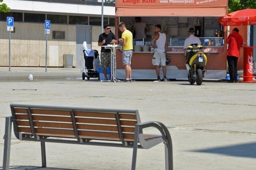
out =
[[[111,26],[111,31],[112,33],[115,33],[114,26]],[[98,50],[99,53],[100,53],[101,47],[98,46],[98,39],[101,33],[102,33],[101,26],[92,26],[92,49]]]

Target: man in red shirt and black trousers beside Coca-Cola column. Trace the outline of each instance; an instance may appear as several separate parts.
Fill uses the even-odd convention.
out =
[[[240,35],[238,28],[234,28],[232,33],[226,39],[226,43],[228,43],[228,72],[230,76],[230,81],[228,83],[236,83],[237,82],[237,61],[240,55],[240,49],[243,45],[243,37]]]

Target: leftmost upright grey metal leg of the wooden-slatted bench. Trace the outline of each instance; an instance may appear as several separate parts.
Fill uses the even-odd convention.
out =
[[[9,170],[12,134],[12,117],[5,118],[3,170]]]

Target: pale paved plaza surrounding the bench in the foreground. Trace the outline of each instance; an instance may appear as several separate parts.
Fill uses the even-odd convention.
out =
[[[0,81],[0,167],[10,103],[138,109],[142,122],[160,121],[172,136],[175,170],[254,170],[256,85],[187,81],[130,83],[96,80]],[[158,133],[145,129],[146,133]],[[40,143],[12,132],[12,169],[39,169]],[[46,143],[47,166],[71,170],[129,170],[132,149]],[[139,149],[138,170],[163,170],[164,145]],[[1,169],[1,168],[0,168]],[[48,169],[48,168],[45,168]]]

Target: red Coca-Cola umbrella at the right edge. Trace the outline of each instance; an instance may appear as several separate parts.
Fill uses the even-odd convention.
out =
[[[232,12],[218,19],[224,26],[256,25],[256,9],[245,9]]]

